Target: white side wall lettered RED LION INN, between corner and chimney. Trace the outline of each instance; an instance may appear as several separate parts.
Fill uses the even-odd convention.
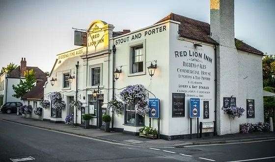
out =
[[[213,45],[201,44],[202,47],[194,47],[194,41],[185,41],[178,39],[178,25],[171,23],[170,25],[170,51],[169,51],[169,70],[170,70],[170,80],[169,80],[169,111],[168,111],[168,121],[169,126],[168,135],[186,135],[190,134],[190,120],[189,117],[189,100],[190,98],[200,99],[200,117],[199,122],[213,122],[215,121],[215,50]],[[190,56],[191,54],[200,53],[202,58]],[[175,52],[182,52],[176,55]],[[184,54],[186,52],[186,54]],[[209,56],[212,60],[211,62],[204,59],[204,54]],[[197,61],[191,60],[197,59]],[[193,63],[196,67],[188,67],[188,65],[183,66],[183,62]],[[199,66],[198,66],[199,65]],[[200,67],[204,66],[204,67]],[[192,70],[197,71],[199,74],[191,74],[187,72],[178,72],[181,70]],[[207,75],[202,75],[201,71],[210,73]],[[190,76],[192,79],[179,78],[179,75]],[[194,78],[193,78],[194,77]],[[200,77],[200,79],[195,79],[195,77]],[[202,77],[209,78],[208,80],[203,80]],[[198,83],[194,83],[196,81]],[[181,85],[181,87],[180,87]],[[188,87],[182,87],[182,85]],[[197,87],[192,87],[197,86]],[[199,86],[209,87],[209,89],[202,89]],[[208,93],[200,93],[197,91],[203,91]],[[172,93],[185,93],[185,117],[172,117]],[[209,101],[209,119],[203,119],[203,101]],[[197,122],[196,118],[192,119],[192,134],[197,133]],[[204,132],[213,132],[213,129],[204,130]]]

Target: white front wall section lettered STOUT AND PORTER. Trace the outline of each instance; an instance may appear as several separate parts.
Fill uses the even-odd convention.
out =
[[[145,32],[155,29],[156,27],[163,27],[166,26],[166,30],[151,34],[145,35]],[[168,135],[168,122],[169,122],[169,30],[170,30],[170,23],[161,23],[160,25],[151,26],[148,28],[140,29],[136,32],[132,32],[131,34],[126,34],[121,37],[116,37],[113,39],[113,44],[115,44],[116,40],[126,39],[128,41],[116,44],[116,58],[115,58],[115,67],[122,70],[120,77],[117,81],[115,81],[115,88],[120,89],[127,85],[134,85],[134,84],[142,84],[146,89],[151,91],[153,94],[156,95],[157,98],[160,99],[160,113],[161,113],[161,121],[160,121],[160,133],[164,135]],[[131,40],[132,36],[135,34],[141,34],[141,37],[135,40]],[[138,75],[138,76],[129,76],[129,54],[130,54],[130,46],[134,44],[138,44],[145,41],[145,74]],[[157,69],[155,75],[151,78],[148,74],[147,67],[154,63],[154,60],[157,60]],[[110,76],[112,76],[111,70],[111,62],[112,62],[112,54],[110,55]],[[110,77],[110,86],[111,86],[112,78]],[[123,90],[115,90],[115,96],[119,99],[119,93]],[[150,98],[154,98],[149,93]],[[111,99],[111,90],[110,90],[110,99]],[[126,126],[124,124],[124,112],[121,115],[115,115],[114,119],[114,128],[123,128],[124,131],[130,132],[139,132],[138,129],[140,127],[134,126]],[[149,126],[149,118],[148,115],[145,115],[145,125]],[[153,128],[158,128],[157,119],[152,120]]]

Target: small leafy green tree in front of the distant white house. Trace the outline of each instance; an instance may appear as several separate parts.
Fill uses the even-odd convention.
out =
[[[19,84],[17,86],[12,85],[12,89],[14,90],[15,94],[13,94],[13,97],[21,98],[24,96],[30,89],[34,87],[34,83],[36,82],[35,79],[35,72],[33,69],[26,70],[24,72],[24,76],[26,78],[25,81],[20,80]]]

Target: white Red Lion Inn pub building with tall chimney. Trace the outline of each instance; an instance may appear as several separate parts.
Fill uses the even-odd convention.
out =
[[[148,114],[140,116],[133,107],[112,114],[107,103],[113,97],[120,100],[124,87],[142,84],[149,98],[160,100],[163,139],[189,136],[191,120],[192,134],[197,133],[196,119],[189,115],[191,98],[200,99],[196,112],[198,121],[206,123],[204,135],[238,133],[241,123],[263,122],[263,53],[234,37],[234,0],[210,3],[211,24],[174,13],[132,32],[113,31],[113,25],[93,21],[83,47],[56,55],[44,99],[60,92],[66,108],[43,109],[44,120],[64,122],[73,113],[75,123],[83,124],[82,114],[89,113],[90,125],[101,128],[102,115],[109,114],[114,131],[137,135],[142,126],[149,126]],[[119,72],[117,80],[114,71]],[[70,107],[76,97],[83,103],[81,110]],[[244,115],[231,120],[221,110],[229,104],[245,108]],[[158,120],[150,125],[158,129]]]

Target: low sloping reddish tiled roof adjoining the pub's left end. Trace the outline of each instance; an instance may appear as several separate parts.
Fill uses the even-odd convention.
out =
[[[21,99],[43,99],[44,97],[44,84],[47,81],[47,78],[42,81],[37,81],[35,87],[33,87],[30,91],[28,91]]]

